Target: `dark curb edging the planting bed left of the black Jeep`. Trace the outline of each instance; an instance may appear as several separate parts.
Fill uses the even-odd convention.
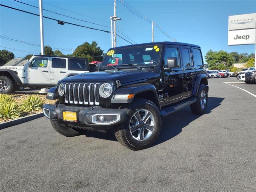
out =
[[[42,113],[30,115],[30,116],[20,117],[19,119],[13,119],[13,120],[10,120],[10,121],[4,122],[4,123],[0,123],[0,130],[7,128],[7,127],[11,127],[13,125],[25,123],[25,122],[28,122],[28,121],[31,121],[31,120],[34,120],[34,119],[37,119],[37,118],[40,118],[43,116],[44,116],[44,113],[42,112]]]

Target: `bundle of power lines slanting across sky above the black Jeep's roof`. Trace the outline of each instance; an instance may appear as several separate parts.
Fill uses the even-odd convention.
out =
[[[124,0],[117,0],[119,3],[121,3],[122,5],[124,5],[124,7],[130,11],[133,15],[135,15],[136,17],[142,19],[142,20],[146,20],[148,23],[151,24],[152,20],[150,20],[149,18],[147,18],[145,15],[141,14],[139,11],[137,11],[135,8],[133,8],[131,5],[129,5],[128,3],[126,3]],[[172,38],[171,36],[169,36],[166,32],[164,32],[164,30],[156,23],[154,22],[154,24],[156,25],[156,27],[165,35],[167,36],[169,39],[172,39],[172,41],[176,41],[176,39]]]

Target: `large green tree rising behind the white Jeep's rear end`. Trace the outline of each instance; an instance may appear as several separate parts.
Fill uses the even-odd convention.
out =
[[[98,46],[95,41],[92,44],[85,42],[76,47],[74,51],[75,57],[87,58],[89,62],[93,60],[102,61],[103,60],[103,50]]]

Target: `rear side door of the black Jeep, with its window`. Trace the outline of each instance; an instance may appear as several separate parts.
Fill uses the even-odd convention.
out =
[[[192,60],[191,47],[183,46],[181,48],[182,65],[184,68],[184,88],[185,97],[190,97],[193,88],[193,80],[196,74],[195,66]]]

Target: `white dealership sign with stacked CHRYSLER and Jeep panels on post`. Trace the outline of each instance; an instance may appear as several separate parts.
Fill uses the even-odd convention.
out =
[[[256,13],[228,16],[228,46],[255,44],[256,70]]]

